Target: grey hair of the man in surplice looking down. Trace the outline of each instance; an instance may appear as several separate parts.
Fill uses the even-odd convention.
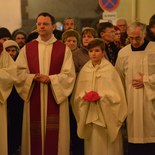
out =
[[[141,22],[131,23],[128,26],[127,33],[129,34],[129,32],[133,32],[137,27],[140,27],[140,29],[141,29],[141,31],[142,31],[143,34],[146,33],[146,24],[141,23]]]

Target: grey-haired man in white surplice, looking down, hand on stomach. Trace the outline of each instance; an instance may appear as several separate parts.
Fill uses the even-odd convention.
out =
[[[127,32],[131,44],[120,50],[116,69],[128,102],[128,154],[154,155],[155,43],[144,40],[143,23],[132,23]]]

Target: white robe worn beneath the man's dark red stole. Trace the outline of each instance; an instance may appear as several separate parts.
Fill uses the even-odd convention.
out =
[[[43,42],[40,37],[37,38],[39,49],[39,69],[40,74],[49,75],[50,58],[53,43],[56,41],[52,36],[47,42]],[[33,52],[33,49],[32,49]],[[33,61],[33,60],[32,60]],[[30,96],[33,89],[34,74],[30,74],[25,47],[21,50],[17,59],[18,72],[20,79],[16,85],[19,94],[25,100],[23,115],[23,134],[22,134],[22,155],[30,155]],[[57,104],[60,104],[59,113],[59,138],[58,155],[69,155],[70,147],[70,128],[69,128],[69,110],[68,96],[72,92],[75,81],[75,69],[72,60],[72,53],[68,47],[65,49],[65,56],[61,71],[59,74],[50,75],[51,90]],[[47,115],[47,94],[48,86],[41,83],[41,129],[42,140],[44,140],[46,131]],[[44,147],[44,146],[43,146]],[[44,150],[44,148],[42,149]]]

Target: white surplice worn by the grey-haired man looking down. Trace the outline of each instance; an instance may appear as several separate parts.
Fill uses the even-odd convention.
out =
[[[131,45],[120,50],[116,62],[126,89],[128,141],[155,142],[155,43],[149,42],[144,51],[132,51]],[[144,74],[144,87],[136,89],[132,80]]]

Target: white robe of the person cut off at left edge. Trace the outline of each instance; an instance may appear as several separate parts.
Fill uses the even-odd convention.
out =
[[[16,65],[10,55],[0,54],[0,154],[7,155],[7,98],[16,80]]]

